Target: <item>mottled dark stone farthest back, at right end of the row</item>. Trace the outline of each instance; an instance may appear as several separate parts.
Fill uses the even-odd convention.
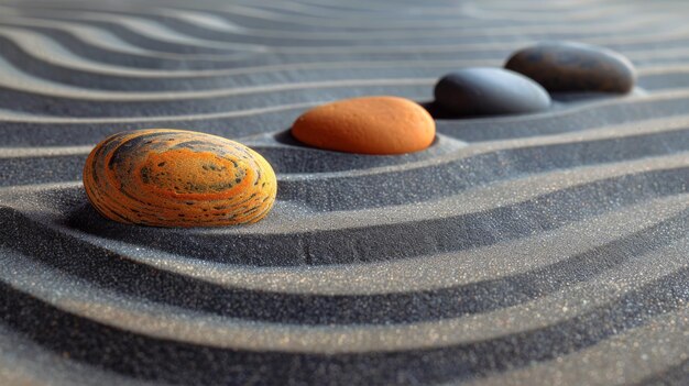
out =
[[[550,92],[615,92],[634,88],[634,65],[614,51],[581,43],[542,43],[517,51],[505,68]]]

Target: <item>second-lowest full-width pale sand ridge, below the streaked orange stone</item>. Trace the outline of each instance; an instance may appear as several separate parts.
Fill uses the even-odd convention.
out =
[[[661,210],[663,206],[667,208]],[[681,195],[671,196],[666,199],[650,200],[649,205],[632,205],[628,210],[590,217],[586,220],[590,224],[586,224],[586,221],[573,222],[544,234],[526,235],[522,239],[503,241],[490,246],[435,253],[394,262],[371,263],[365,266],[333,265],[305,267],[304,269],[226,264],[209,266],[207,261],[203,258],[179,258],[173,254],[161,254],[158,251],[142,247],[134,252],[125,243],[116,242],[110,247],[110,244],[103,239],[87,238],[86,240],[97,247],[111,250],[113,253],[127,256],[127,258],[139,264],[151,265],[157,269],[169,271],[221,286],[294,294],[370,295],[433,290],[444,286],[479,283],[496,278],[495,275],[508,277],[508,275],[523,274],[529,269],[534,271],[548,264],[559,263],[562,254],[581,254],[588,249],[598,247],[595,245],[598,243],[612,242],[623,236],[628,238],[635,231],[653,228],[657,221],[665,221],[666,218],[675,216],[683,209],[686,209],[686,197]],[[639,216],[644,220],[632,224],[633,218]],[[595,240],[591,230],[602,227],[604,221],[622,221],[630,225],[627,225],[628,229],[615,228],[598,232],[598,240]],[[340,224],[340,229],[344,230],[346,228]],[[81,236],[78,231],[64,227],[57,231]],[[568,234],[572,233],[577,234],[580,240],[565,249],[558,249],[558,242],[562,242]],[[539,247],[543,251],[538,251]],[[524,258],[515,260],[511,256],[511,252],[515,249],[525,251]],[[153,254],[160,257],[152,258],[151,255]],[[532,260],[526,260],[526,256]],[[419,271],[419,267],[424,269]],[[393,273],[396,277],[390,277]],[[321,280],[324,275],[330,278],[327,283]],[[387,279],[380,280],[383,277],[387,277]],[[409,282],[414,284],[409,285]]]

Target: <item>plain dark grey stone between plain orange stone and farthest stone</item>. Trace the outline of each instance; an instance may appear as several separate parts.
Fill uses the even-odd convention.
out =
[[[464,68],[442,77],[436,104],[450,117],[520,114],[548,110],[550,96],[532,79],[502,68]]]

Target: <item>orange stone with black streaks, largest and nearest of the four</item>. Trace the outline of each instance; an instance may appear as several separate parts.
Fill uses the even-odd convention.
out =
[[[271,165],[251,148],[183,130],[136,130],[99,143],[84,187],[108,219],[152,227],[256,222],[275,202]]]

